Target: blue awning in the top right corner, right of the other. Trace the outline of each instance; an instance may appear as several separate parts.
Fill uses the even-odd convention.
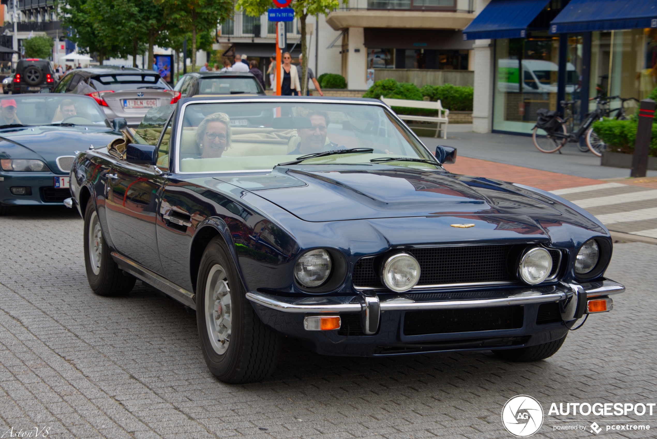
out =
[[[551,34],[640,28],[657,28],[657,0],[572,0],[550,23]]]

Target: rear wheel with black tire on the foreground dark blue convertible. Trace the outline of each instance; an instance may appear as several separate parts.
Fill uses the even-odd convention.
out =
[[[98,229],[96,229],[98,225]],[[90,239],[91,233],[97,239],[100,246],[99,252],[93,252]],[[121,296],[129,293],[135,287],[135,277],[125,273],[114,262],[110,255],[110,248],[102,236],[102,230],[98,222],[96,207],[93,200],[89,200],[84,214],[84,265],[87,269],[87,280],[89,287],[99,296]]]

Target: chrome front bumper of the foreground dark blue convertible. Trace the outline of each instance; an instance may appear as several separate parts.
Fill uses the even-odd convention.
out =
[[[610,296],[625,291],[625,287],[609,279],[587,283],[564,283],[552,287],[526,287],[502,290],[493,298],[431,300],[418,298],[421,294],[398,294],[380,300],[371,291],[361,291],[357,296],[282,297],[262,292],[247,292],[246,298],[255,304],[285,313],[341,313],[362,312],[363,332],[374,334],[378,320],[384,311],[446,310],[453,308],[485,308],[562,302],[562,319],[578,319],[585,312],[587,300]],[[428,294],[431,295],[431,294]],[[454,295],[458,296],[458,293]],[[414,296],[415,298],[411,298]]]

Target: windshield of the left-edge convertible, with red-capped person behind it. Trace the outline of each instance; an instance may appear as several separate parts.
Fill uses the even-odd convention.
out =
[[[8,125],[93,125],[109,127],[101,107],[79,95],[11,95],[0,99],[0,127]]]

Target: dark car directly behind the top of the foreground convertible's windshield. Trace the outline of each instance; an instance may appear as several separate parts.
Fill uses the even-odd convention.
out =
[[[265,95],[258,79],[242,72],[202,72],[181,76],[174,87],[181,97],[196,95]]]

